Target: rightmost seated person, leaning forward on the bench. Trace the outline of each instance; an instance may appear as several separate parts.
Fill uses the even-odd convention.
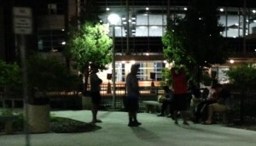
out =
[[[227,98],[230,98],[230,92],[221,85],[219,85],[219,87],[217,88],[217,92],[218,101],[217,103],[208,105],[207,121],[205,121],[205,124],[212,124],[212,115],[214,112],[224,112],[228,109],[225,101]]]

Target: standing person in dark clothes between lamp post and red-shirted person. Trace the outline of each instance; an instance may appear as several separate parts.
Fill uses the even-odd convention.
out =
[[[140,126],[142,123],[137,121],[139,86],[137,71],[140,65],[131,65],[131,72],[126,76],[127,97],[126,104],[129,116],[128,126]]]

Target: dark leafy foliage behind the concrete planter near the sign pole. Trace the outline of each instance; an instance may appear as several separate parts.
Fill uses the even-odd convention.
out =
[[[79,77],[71,74],[58,59],[34,54],[27,62],[29,89],[37,87],[39,91],[46,92],[78,88]]]

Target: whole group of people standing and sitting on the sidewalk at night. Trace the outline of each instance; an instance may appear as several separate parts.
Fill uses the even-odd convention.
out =
[[[137,79],[137,71],[140,65],[131,65],[131,72],[126,76],[126,95],[125,95],[125,109],[128,112],[128,126],[140,126],[141,122],[137,121],[138,99],[140,96],[139,85]],[[196,88],[193,82],[187,81],[187,76],[183,66],[172,67],[172,89],[170,87],[163,87],[165,91],[165,98],[162,101],[161,112],[159,116],[163,116],[166,112],[166,108],[169,106],[168,117],[172,117],[175,124],[178,124],[178,113],[183,119],[183,125],[189,126],[188,116],[186,110],[190,108],[188,105],[193,104],[194,107],[194,122],[203,121],[205,124],[212,124],[212,113],[214,111],[224,111],[226,107],[224,105],[225,98],[229,97],[228,91],[218,84],[212,82],[212,86],[209,87],[207,98],[201,98],[200,89]],[[100,84],[102,80],[96,75],[97,68],[92,68],[92,74],[90,75],[91,84],[91,102],[92,102],[92,123],[102,122],[97,119],[97,111],[101,104]],[[191,103],[190,103],[191,102]],[[205,115],[202,114],[202,110],[205,111]],[[207,115],[207,116],[206,116]]]

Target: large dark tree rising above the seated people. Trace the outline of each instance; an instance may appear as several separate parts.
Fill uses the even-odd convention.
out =
[[[224,48],[224,30],[218,24],[218,10],[214,0],[193,0],[185,17],[168,20],[162,42],[165,57],[176,65],[185,65],[197,83],[206,67],[223,64],[227,59]]]

